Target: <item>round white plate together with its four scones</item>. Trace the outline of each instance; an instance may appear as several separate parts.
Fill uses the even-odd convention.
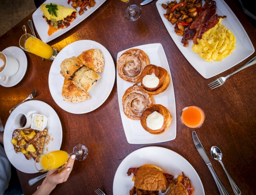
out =
[[[100,43],[75,41],[54,59],[48,82],[52,98],[63,110],[89,113],[102,105],[111,93],[115,64]]]

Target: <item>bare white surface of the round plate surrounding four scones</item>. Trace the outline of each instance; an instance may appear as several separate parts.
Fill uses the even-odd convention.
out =
[[[70,58],[72,56],[77,57],[83,51],[89,49],[99,49],[102,51],[105,61],[104,72],[98,73],[101,78],[97,81],[93,89],[89,91],[91,97],[89,100],[79,103],[64,101],[61,95],[64,83],[64,77],[60,73],[61,62],[65,58]],[[111,54],[103,45],[91,40],[75,41],[63,48],[54,59],[49,72],[49,88],[52,98],[63,110],[74,114],[89,113],[102,105],[111,93],[114,82],[115,64]]]

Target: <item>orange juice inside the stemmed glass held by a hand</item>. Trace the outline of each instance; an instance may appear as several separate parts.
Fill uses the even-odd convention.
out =
[[[52,170],[61,167],[67,162],[68,154],[63,150],[47,152],[41,156],[41,166],[43,170]]]

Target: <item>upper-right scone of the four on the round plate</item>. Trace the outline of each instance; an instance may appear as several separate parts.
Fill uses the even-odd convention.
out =
[[[82,54],[78,56],[78,59],[93,71],[103,72],[104,56],[101,50],[90,49],[83,51]]]

